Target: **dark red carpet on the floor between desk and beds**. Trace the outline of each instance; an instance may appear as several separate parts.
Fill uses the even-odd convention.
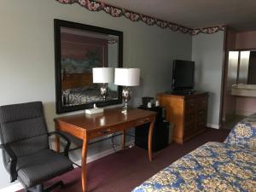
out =
[[[173,161],[189,153],[193,149],[208,141],[223,142],[230,130],[207,129],[200,136],[195,137],[183,145],[172,144],[168,148],[154,154],[154,160],[148,161],[147,151],[142,148],[131,148],[116,154],[111,154],[100,160],[91,162],[88,170],[89,192],[128,192],[134,189],[148,177],[153,176]],[[80,192],[80,170],[76,168],[61,177],[49,181],[62,180],[66,183],[64,189],[54,192]]]

